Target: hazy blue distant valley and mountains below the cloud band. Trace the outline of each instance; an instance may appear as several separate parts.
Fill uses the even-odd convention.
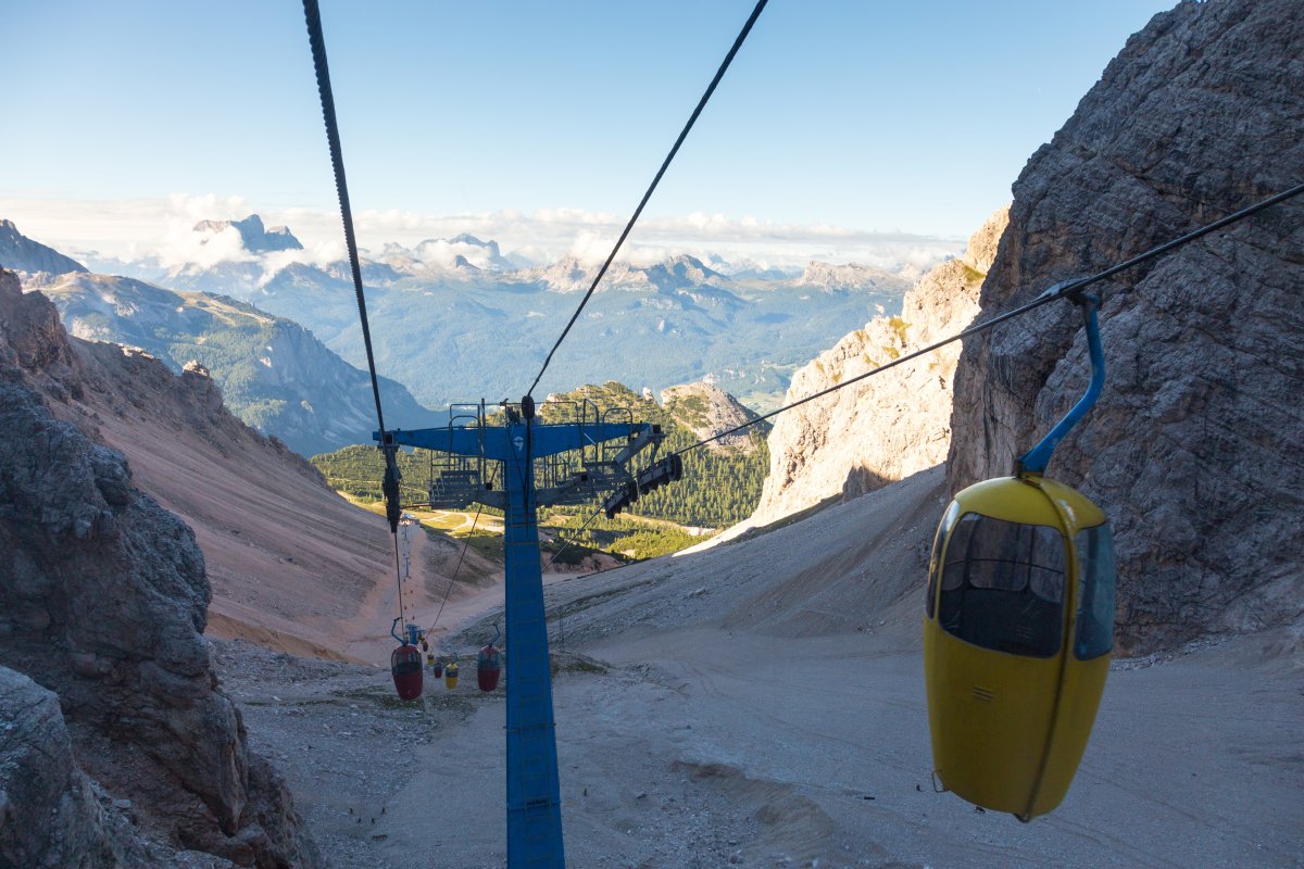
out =
[[[365,367],[347,263],[313,264],[289,229],[269,229],[258,215],[200,221],[189,241],[196,250],[223,253],[196,257],[202,264],[94,254],[86,262],[175,292],[220,294],[228,309],[235,300],[288,318]],[[935,255],[941,261],[961,249],[960,241],[936,242]],[[708,261],[614,263],[536,393],[609,379],[655,392],[707,380],[748,406],[769,409],[815,350],[875,313],[895,313],[918,276],[909,267],[810,263],[785,272]],[[482,396],[516,399],[596,271],[574,257],[531,263],[469,235],[412,248],[386,244],[363,261],[377,367],[428,408]],[[65,318],[73,315],[70,300],[56,294],[55,301]],[[73,322],[69,327],[77,332]],[[141,343],[125,323],[113,328],[121,330],[119,337],[103,337]],[[421,425],[402,413],[395,421]]]

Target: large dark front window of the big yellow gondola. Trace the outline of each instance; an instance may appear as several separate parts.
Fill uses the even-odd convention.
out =
[[[941,628],[1016,655],[1059,654],[1064,629],[1064,538],[1058,528],[965,513],[947,542]]]

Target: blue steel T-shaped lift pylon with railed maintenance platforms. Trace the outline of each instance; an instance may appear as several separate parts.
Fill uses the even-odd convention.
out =
[[[476,405],[458,405],[460,408]],[[552,406],[552,405],[545,405]],[[643,448],[659,444],[660,426],[632,422],[629,412],[600,413],[589,403],[571,404],[566,422],[535,418],[529,396],[519,410],[503,405],[505,425],[486,425],[479,413],[452,413],[441,429],[391,430],[378,442],[421,447],[455,457],[441,500],[480,502],[503,511],[507,650],[507,868],[563,869],[561,782],[553,719],[548,623],[544,614],[544,575],[539,548],[540,504],[576,503],[592,498],[604,481],[629,478],[627,463]],[[619,422],[608,421],[613,413]],[[557,414],[549,414],[557,416]],[[617,449],[608,442],[622,440]],[[563,453],[576,460],[556,473]],[[501,489],[490,489],[486,461],[498,461]],[[542,485],[536,470],[542,463]],[[458,491],[451,491],[456,489]],[[432,486],[432,502],[436,499]],[[439,504],[432,503],[432,507]]]

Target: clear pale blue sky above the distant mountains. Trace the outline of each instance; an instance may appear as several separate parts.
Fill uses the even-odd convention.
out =
[[[467,228],[541,254],[600,246],[751,5],[323,0],[361,244]],[[644,242],[709,224],[801,258],[806,228],[811,255],[846,259],[882,233],[965,237],[1170,5],[772,0]],[[334,242],[299,3],[3,0],[0,29],[18,36],[0,55],[0,216],[20,229],[140,253],[166,219],[258,211]]]

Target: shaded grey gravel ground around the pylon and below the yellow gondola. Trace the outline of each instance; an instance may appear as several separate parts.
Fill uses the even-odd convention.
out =
[[[549,588],[570,865],[1304,866],[1287,632],[1118,663],[1045,818],[931,791],[918,562],[938,486],[928,472],[745,545]],[[472,649],[493,618],[450,641]],[[503,865],[501,688],[406,705],[383,670],[223,649],[254,747],[333,865]]]

